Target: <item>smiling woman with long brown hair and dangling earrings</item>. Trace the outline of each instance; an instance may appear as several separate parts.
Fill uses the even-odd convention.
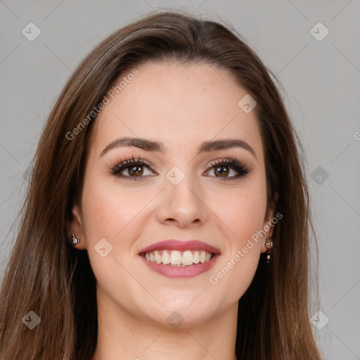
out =
[[[297,146],[223,25],[164,12],[110,35],[42,132],[1,359],[321,359]]]

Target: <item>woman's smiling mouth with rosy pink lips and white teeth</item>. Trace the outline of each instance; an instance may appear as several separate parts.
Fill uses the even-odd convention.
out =
[[[198,240],[165,240],[141,250],[143,262],[167,278],[191,278],[208,271],[220,251]]]

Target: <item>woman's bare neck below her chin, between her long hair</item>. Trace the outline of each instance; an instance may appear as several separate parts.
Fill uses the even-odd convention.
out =
[[[97,299],[98,339],[92,360],[236,360],[237,302],[206,321],[184,321],[175,329],[129,314],[99,288]]]

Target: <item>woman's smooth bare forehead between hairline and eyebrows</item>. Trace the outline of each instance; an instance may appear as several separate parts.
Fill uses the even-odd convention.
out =
[[[112,96],[107,96],[110,102],[95,120],[91,148],[96,153],[119,137],[138,136],[178,151],[203,141],[238,138],[252,143],[262,156],[255,112],[245,113],[238,105],[247,91],[230,72],[210,65],[162,63],[136,70],[135,76],[129,70],[117,79]]]

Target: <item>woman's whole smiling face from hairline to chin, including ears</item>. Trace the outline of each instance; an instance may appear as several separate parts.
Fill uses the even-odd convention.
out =
[[[267,250],[262,139],[225,70],[137,70],[94,120],[73,230],[104,307],[191,326],[237,307]]]

